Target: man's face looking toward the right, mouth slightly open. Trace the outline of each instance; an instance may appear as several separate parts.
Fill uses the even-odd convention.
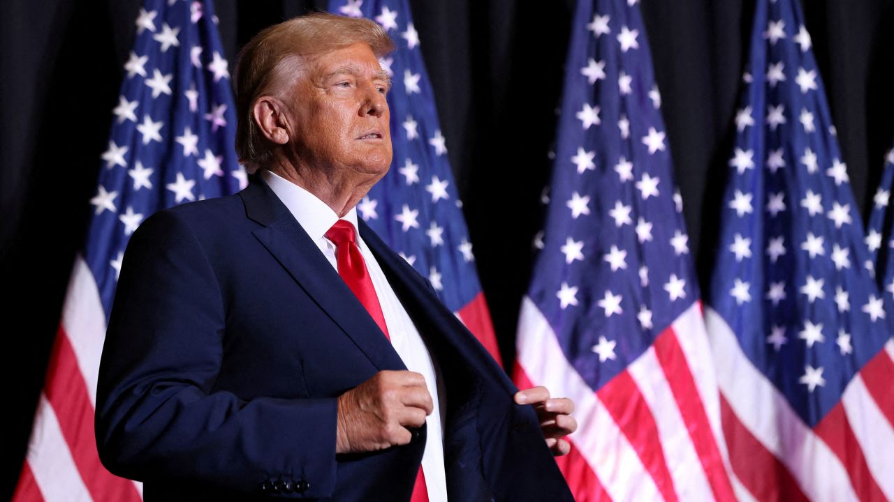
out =
[[[291,143],[323,172],[388,172],[392,160],[387,73],[366,44],[308,57],[289,96]]]

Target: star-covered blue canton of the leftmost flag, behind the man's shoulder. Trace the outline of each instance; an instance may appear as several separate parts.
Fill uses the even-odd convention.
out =
[[[159,209],[244,188],[230,72],[211,3],[148,0],[139,10],[84,258],[106,318],[124,247]]]

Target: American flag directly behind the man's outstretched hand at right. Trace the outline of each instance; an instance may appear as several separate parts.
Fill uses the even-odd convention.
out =
[[[575,401],[578,500],[731,500],[682,200],[635,0],[580,0],[519,387]]]

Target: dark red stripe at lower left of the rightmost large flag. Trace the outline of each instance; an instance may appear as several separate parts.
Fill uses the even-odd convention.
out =
[[[734,452],[730,456],[733,472],[757,500],[808,500],[786,466],[738,420],[723,395],[721,416],[727,446]]]

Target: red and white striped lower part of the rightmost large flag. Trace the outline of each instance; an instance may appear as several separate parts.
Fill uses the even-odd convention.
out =
[[[723,433],[738,481],[756,500],[894,500],[894,342],[848,383],[811,429],[708,309]]]

